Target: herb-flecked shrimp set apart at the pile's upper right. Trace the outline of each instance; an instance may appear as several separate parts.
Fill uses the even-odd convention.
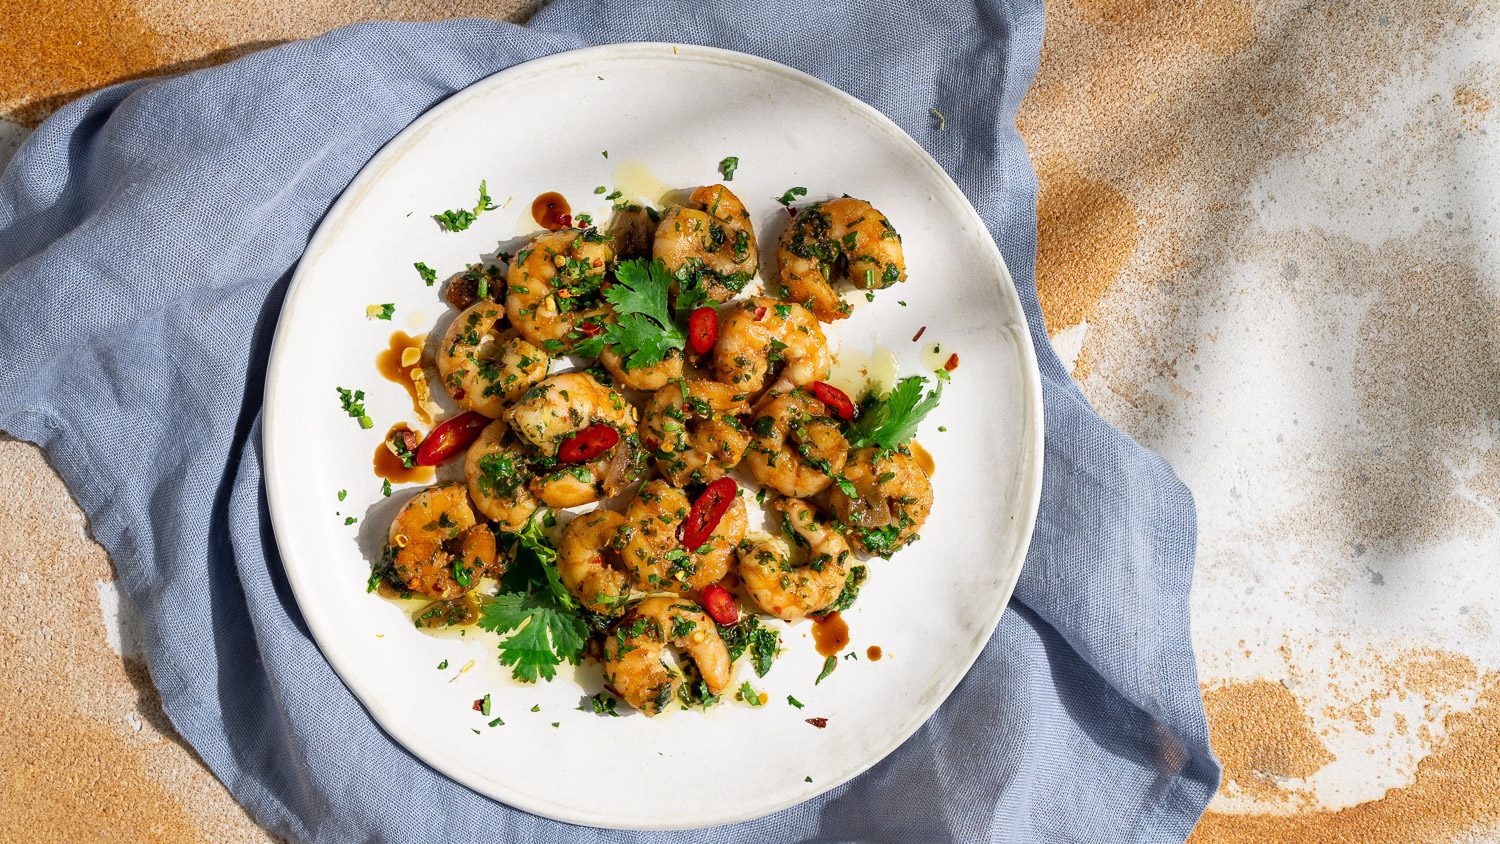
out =
[[[849,303],[834,291],[840,276],[867,291],[906,280],[902,235],[885,214],[854,196],[798,211],[782,232],[777,261],[786,298],[824,322],[849,316]]]

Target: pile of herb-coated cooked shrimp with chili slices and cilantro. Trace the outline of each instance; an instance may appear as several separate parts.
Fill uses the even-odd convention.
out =
[[[418,625],[472,624],[528,549],[592,637],[579,654],[651,717],[730,690],[756,616],[842,612],[872,558],[916,541],[933,505],[909,442],[920,415],[898,441],[864,423],[886,397],[826,382],[825,325],[852,312],[838,288],[904,282],[902,238],[852,196],[792,211],[770,285],[724,184],[660,213],[616,205],[603,231],[562,220],[454,276],[430,363],[462,414],[392,448],[408,466],[462,453],[462,472],[399,507],[376,570],[434,601]]]

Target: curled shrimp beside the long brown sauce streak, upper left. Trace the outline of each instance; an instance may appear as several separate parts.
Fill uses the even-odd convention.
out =
[[[506,309],[482,300],[459,313],[438,349],[438,373],[468,411],[495,418],[548,376],[548,354],[506,330]]]

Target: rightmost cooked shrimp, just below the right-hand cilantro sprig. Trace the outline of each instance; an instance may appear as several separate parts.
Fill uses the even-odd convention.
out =
[[[860,448],[849,456],[844,478],[858,495],[834,489],[828,504],[855,547],[891,556],[916,541],[933,508],[933,486],[909,451]]]

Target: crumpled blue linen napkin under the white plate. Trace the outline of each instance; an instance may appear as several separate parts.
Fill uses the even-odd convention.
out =
[[[1041,36],[1036,0],[560,0],[528,27],[354,25],[84,96],[0,180],[0,429],[51,454],[140,609],[166,714],[279,835],[1180,841],[1218,784],[1188,636],[1192,502],[1162,460],[1089,408],[1047,340],[1034,282],[1036,181],[1014,127]],[[309,639],[261,483],[272,328],[339,192],[453,91],[615,40],[756,52],[896,120],[999,241],[1046,397],[1036,534],[969,676],[855,781],[706,832],[538,819],[394,745]]]

